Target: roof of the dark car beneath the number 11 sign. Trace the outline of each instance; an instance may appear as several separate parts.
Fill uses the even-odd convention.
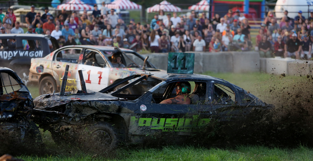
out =
[[[194,80],[203,80],[203,81],[219,81],[219,82],[227,82],[224,79],[221,78],[215,78],[208,75],[202,75],[202,74],[175,74],[175,73],[166,73],[165,71],[157,71],[157,72],[150,72],[154,78],[159,78],[164,81],[172,81],[172,80],[179,80],[179,79],[194,79]],[[141,74],[148,74],[147,72],[142,73],[136,73],[138,75]],[[229,83],[229,82],[227,82]]]

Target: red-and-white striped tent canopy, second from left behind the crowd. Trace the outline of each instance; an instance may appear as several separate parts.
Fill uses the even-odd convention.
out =
[[[141,9],[141,5],[131,2],[130,0],[116,0],[106,4],[105,7],[110,9]]]

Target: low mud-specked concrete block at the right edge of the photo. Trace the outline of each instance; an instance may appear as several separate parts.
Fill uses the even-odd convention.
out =
[[[294,62],[288,62],[288,75],[308,75],[310,74],[311,61],[297,60]]]

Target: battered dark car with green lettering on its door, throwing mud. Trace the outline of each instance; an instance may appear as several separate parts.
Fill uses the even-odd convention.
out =
[[[160,104],[176,97],[175,85],[181,81],[189,82],[193,88],[189,93],[191,104]],[[135,94],[124,92],[140,84],[153,87]],[[253,112],[273,108],[223,79],[166,72],[136,73],[99,92],[44,94],[35,98],[34,104],[42,111],[35,116],[36,123],[49,130],[55,142],[88,144],[90,149],[106,150],[121,142],[144,143],[151,138],[185,143],[194,132],[212,122],[235,122]],[[53,112],[59,114],[46,114]]]

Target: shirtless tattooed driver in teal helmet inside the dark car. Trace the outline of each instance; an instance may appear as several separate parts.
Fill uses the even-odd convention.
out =
[[[191,85],[189,82],[176,83],[176,97],[163,100],[162,104],[190,104],[189,93]]]

